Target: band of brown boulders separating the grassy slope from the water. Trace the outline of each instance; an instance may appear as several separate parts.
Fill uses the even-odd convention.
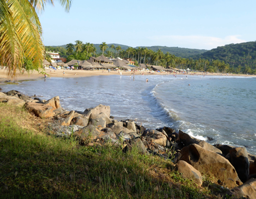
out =
[[[208,175],[229,188],[229,196],[256,199],[256,156],[245,147],[211,145],[170,127],[146,129],[131,119],[118,121],[110,115],[110,107],[102,104],[83,112],[67,111],[58,96],[40,100],[14,90],[0,93],[0,102],[24,106],[31,114],[48,118],[50,135],[74,137],[84,146],[117,145],[124,153],[136,148],[145,155],[170,159],[184,178],[199,186],[202,175]]]

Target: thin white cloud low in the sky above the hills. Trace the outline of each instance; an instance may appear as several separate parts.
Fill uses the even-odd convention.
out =
[[[239,39],[238,37],[240,35],[230,35],[225,38],[200,35],[160,35],[151,36],[148,39],[151,40],[153,45],[211,50],[226,44],[246,42],[246,40]]]

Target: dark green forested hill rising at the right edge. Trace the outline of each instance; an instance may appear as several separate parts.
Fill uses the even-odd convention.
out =
[[[199,58],[219,59],[235,68],[248,66],[256,69],[256,41],[220,46],[193,57],[193,59]]]

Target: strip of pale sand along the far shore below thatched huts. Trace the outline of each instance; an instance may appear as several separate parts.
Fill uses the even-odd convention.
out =
[[[5,69],[0,69],[0,81],[6,81],[6,80],[10,80],[10,78],[7,77],[7,70]],[[47,74],[46,78],[78,78],[78,77],[90,77],[90,76],[99,76],[99,75],[120,75],[120,73],[118,71],[111,71],[110,73],[106,70],[104,70],[102,72],[102,70],[97,70],[97,71],[87,71],[87,70],[64,70],[65,74],[63,75],[63,70],[45,70],[45,73]],[[151,73],[146,73],[146,72],[139,72],[136,71],[135,75],[184,75],[184,74],[176,74],[176,73],[167,73],[167,72],[163,72],[163,73],[157,73],[155,72],[154,74]],[[130,76],[132,75],[132,72],[125,72],[122,71],[122,75],[126,75],[126,76]],[[190,74],[185,74],[185,75],[204,75],[203,73],[190,73]],[[227,76],[227,74],[217,74],[217,73],[210,73],[209,75],[222,75],[222,76]],[[256,77],[256,75],[246,75],[246,74],[229,74],[229,76],[245,76],[245,77]],[[37,71],[33,71],[30,73],[24,72],[23,74],[20,72],[16,73],[16,77],[15,77],[15,81],[21,81],[21,80],[36,80],[36,79],[40,79],[40,78],[44,78],[43,74],[38,73]]]

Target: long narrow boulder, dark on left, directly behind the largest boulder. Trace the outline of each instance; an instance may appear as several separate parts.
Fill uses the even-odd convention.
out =
[[[179,130],[179,138],[180,138],[180,141],[183,142],[184,146],[188,146],[190,144],[197,144],[206,150],[210,150],[215,153],[222,153],[222,151],[220,149],[217,149],[216,147],[207,143],[206,141],[194,138],[194,137],[190,136],[189,134],[184,133],[181,130]]]

